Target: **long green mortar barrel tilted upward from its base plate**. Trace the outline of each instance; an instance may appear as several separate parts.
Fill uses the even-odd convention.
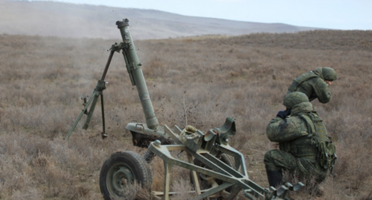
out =
[[[142,109],[146,117],[146,124],[149,129],[155,130],[159,123],[155,116],[153,104],[148,93],[145,77],[142,72],[142,63],[138,60],[137,52],[135,50],[132,36],[129,33],[129,20],[124,19],[117,21],[118,29],[120,29],[121,36],[124,42],[123,55],[126,60],[126,68],[129,76],[133,78],[132,84],[137,87],[138,95],[140,96]],[[129,66],[128,66],[129,65]]]

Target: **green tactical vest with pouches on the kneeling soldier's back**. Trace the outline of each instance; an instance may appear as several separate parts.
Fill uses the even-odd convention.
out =
[[[336,161],[336,147],[327,136],[327,130],[316,112],[301,113],[301,117],[308,128],[308,135],[281,145],[283,151],[290,152],[295,157],[314,156],[321,167],[332,169]]]

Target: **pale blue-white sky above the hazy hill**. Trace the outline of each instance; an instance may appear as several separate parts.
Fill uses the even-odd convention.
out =
[[[55,0],[155,9],[187,16],[286,23],[342,30],[372,29],[372,0]]]

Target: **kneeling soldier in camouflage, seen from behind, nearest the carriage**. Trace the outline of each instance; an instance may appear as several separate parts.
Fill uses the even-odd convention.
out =
[[[336,148],[304,93],[289,93],[283,104],[287,110],[279,111],[266,128],[270,141],[279,142],[279,149],[269,150],[264,156],[269,185],[281,184],[282,170],[314,177],[320,183],[333,167]]]

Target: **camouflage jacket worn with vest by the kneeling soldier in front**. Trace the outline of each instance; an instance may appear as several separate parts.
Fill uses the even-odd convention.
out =
[[[270,120],[266,135],[270,141],[279,142],[280,150],[297,158],[315,159],[324,169],[332,169],[337,159],[336,147],[310,102],[294,106],[285,119]]]

